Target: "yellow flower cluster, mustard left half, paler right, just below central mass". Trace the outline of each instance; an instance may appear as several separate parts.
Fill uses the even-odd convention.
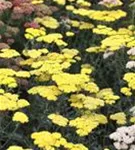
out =
[[[69,102],[71,106],[76,108],[85,108],[89,110],[96,110],[104,106],[104,101],[95,97],[85,96],[84,94],[72,94]]]

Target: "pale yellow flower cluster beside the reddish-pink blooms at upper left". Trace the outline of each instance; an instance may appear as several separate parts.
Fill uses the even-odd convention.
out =
[[[59,22],[51,16],[45,16],[43,18],[35,18],[34,21],[50,29],[56,29],[59,27]]]

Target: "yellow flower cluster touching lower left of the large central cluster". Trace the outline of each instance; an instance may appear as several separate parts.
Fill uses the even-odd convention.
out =
[[[41,97],[46,98],[47,100],[56,101],[57,96],[61,94],[61,91],[57,86],[36,86],[28,90],[29,94],[35,95],[39,94]]]

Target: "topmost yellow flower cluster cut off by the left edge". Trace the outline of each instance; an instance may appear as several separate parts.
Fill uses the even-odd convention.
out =
[[[2,49],[0,50],[0,58],[13,58],[18,57],[20,54],[14,49]]]

